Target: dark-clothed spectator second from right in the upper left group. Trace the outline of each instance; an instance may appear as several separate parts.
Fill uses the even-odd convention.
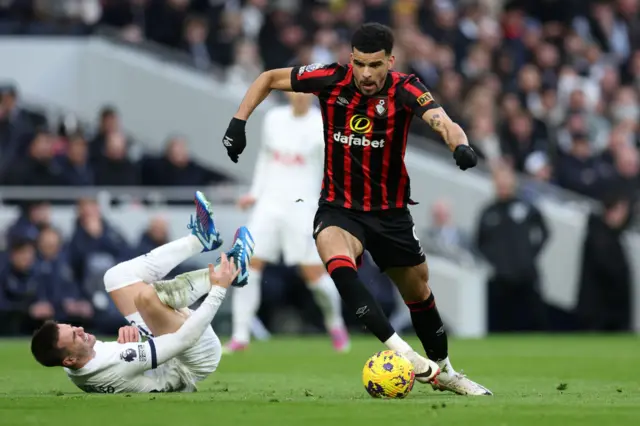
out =
[[[104,154],[96,160],[95,183],[99,186],[140,184],[140,170],[127,158],[127,140],[122,133],[107,135]]]

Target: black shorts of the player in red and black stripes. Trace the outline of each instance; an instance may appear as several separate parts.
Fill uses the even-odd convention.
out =
[[[408,208],[363,212],[321,201],[313,220],[313,237],[330,226],[356,237],[381,271],[426,260]]]

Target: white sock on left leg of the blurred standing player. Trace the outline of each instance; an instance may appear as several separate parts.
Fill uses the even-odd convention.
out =
[[[249,343],[251,323],[260,308],[262,271],[249,268],[249,282],[244,287],[233,289],[231,298],[232,332],[231,340]]]

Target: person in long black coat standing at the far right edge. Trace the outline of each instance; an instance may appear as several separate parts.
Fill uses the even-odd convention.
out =
[[[632,278],[622,242],[629,224],[629,201],[611,194],[603,206],[602,214],[589,216],[576,314],[589,331],[629,331]]]

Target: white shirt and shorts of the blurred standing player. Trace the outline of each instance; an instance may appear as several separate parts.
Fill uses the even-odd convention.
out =
[[[260,244],[255,257],[287,265],[322,264],[313,241],[324,165],[322,114],[311,107],[304,116],[291,106],[271,109],[265,116],[262,147],[251,195],[256,204],[249,229]]]

